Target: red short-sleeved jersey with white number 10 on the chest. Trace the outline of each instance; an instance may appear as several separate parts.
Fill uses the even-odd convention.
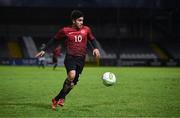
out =
[[[83,26],[79,30],[72,26],[64,27],[56,33],[54,38],[56,40],[65,38],[67,54],[73,56],[85,56],[87,41],[95,39],[88,26]]]

